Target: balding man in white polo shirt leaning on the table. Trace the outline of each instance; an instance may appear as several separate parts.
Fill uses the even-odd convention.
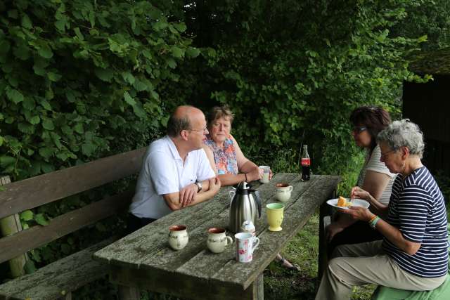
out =
[[[208,200],[220,189],[203,150],[207,134],[203,112],[179,106],[167,122],[167,136],[150,144],[129,207],[133,232],[176,209]]]

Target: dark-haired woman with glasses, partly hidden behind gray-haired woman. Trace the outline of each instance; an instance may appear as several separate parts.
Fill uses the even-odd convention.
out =
[[[366,150],[364,167],[359,173],[357,185],[373,195],[375,200],[387,205],[389,203],[394,174],[380,162],[380,146],[376,142],[378,133],[391,122],[389,112],[378,106],[362,106],[350,115],[353,125],[352,135],[356,145]],[[377,213],[374,207],[373,212]],[[328,252],[340,244],[356,244],[381,240],[380,233],[371,230],[366,222],[355,221],[348,215],[338,214],[337,220],[327,228]]]

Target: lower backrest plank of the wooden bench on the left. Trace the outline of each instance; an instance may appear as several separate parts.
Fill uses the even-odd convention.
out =
[[[84,226],[127,210],[134,191],[105,198],[57,216],[47,226],[33,226],[0,239],[0,263],[72,233]]]

